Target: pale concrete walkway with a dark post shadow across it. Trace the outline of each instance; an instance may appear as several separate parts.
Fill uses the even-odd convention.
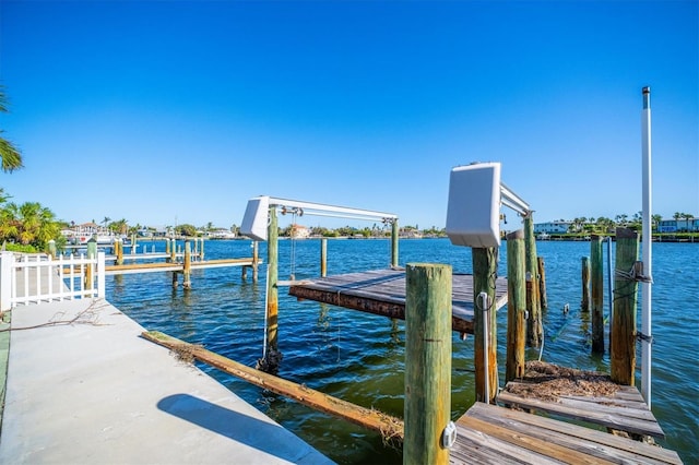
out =
[[[15,308],[0,463],[332,463],[142,331],[105,300]]]

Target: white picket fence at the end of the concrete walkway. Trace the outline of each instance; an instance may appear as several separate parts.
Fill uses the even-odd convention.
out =
[[[104,252],[93,259],[0,253],[0,311],[17,305],[104,296]]]

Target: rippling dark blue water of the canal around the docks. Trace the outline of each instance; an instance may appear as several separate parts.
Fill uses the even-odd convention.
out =
[[[163,242],[154,243],[156,250],[164,250]],[[149,250],[151,247],[149,243]],[[537,242],[537,251],[546,263],[549,303],[544,317],[542,359],[608,371],[608,354],[589,355],[589,315],[579,311],[580,259],[590,254],[590,243]],[[250,241],[209,241],[205,253],[208,259],[251,257]],[[318,276],[319,254],[319,240],[281,241],[280,279],[288,278],[292,272],[297,279]],[[266,259],[264,245],[260,257]],[[389,260],[388,240],[328,242],[329,274],[381,269]],[[410,262],[448,263],[454,273],[472,270],[471,250],[453,247],[447,239],[402,240],[400,264]],[[662,444],[678,451],[685,463],[699,463],[698,263],[699,245],[653,246],[652,408],[668,437]],[[503,242],[500,275],[505,276],[506,269]],[[263,266],[258,284],[251,282],[251,275],[249,282],[242,282],[240,269],[234,267],[193,272],[193,289],[187,293],[170,286],[169,273],[108,277],[107,299],[147,330],[203,344],[210,350],[254,366],[262,356],[264,337]],[[562,312],[566,303],[570,305],[568,314]],[[500,379],[505,379],[506,309],[499,312],[498,321]],[[280,375],[398,417],[403,416],[404,336],[403,322],[393,324],[382,317],[297,302],[284,289],[280,291],[279,344],[284,355]],[[638,354],[640,365],[640,347]],[[538,349],[528,353],[528,359],[538,356]],[[462,342],[454,335],[452,366],[455,419],[474,402],[473,337]],[[265,393],[209,367],[200,368],[339,463],[402,462],[400,450],[384,445],[378,433]],[[637,385],[640,386],[638,377]]]

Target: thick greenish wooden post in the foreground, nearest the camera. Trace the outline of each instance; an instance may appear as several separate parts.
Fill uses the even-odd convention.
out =
[[[451,266],[411,263],[405,295],[403,464],[447,464],[451,416]]]

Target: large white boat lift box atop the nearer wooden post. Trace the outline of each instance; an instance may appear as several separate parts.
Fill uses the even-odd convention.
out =
[[[500,164],[458,166],[449,178],[447,236],[454,246],[500,246]]]

